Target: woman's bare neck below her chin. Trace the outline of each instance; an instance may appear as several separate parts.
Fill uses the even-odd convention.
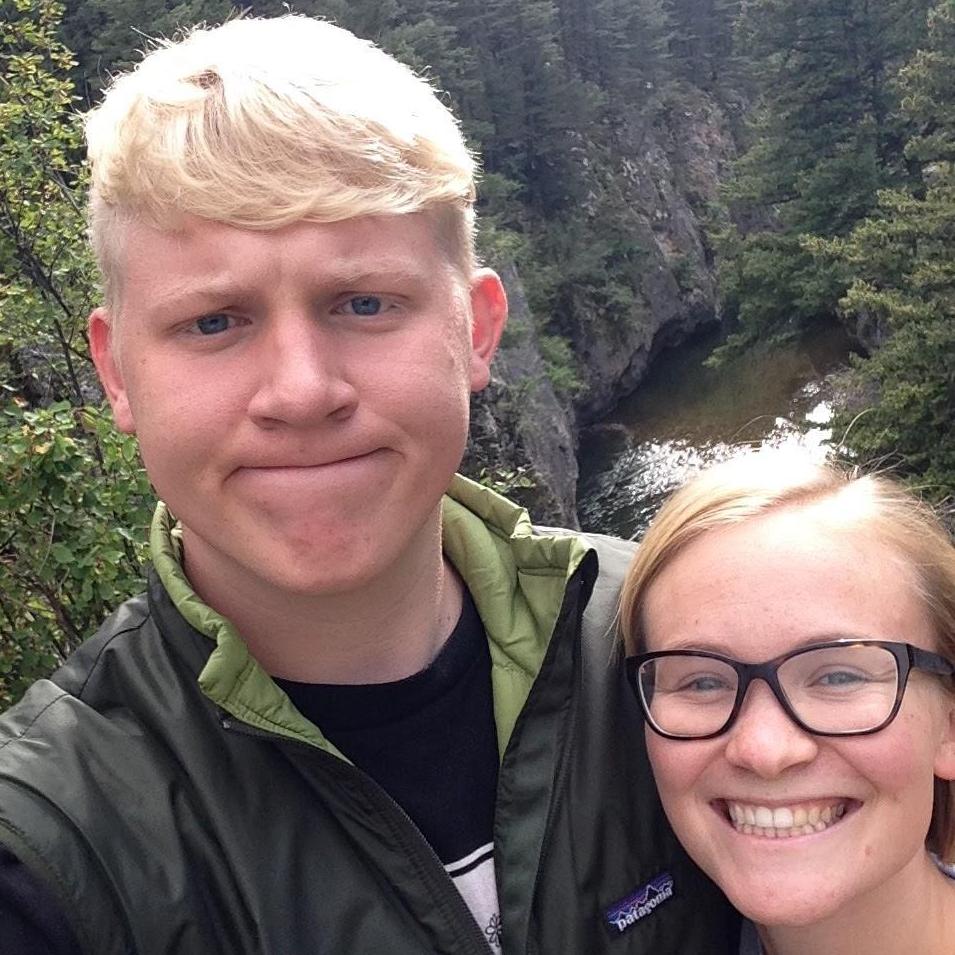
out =
[[[926,852],[828,918],[757,928],[766,955],[950,955],[955,948],[955,882]]]

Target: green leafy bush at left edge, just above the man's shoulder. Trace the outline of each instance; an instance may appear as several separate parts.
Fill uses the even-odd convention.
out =
[[[100,409],[0,413],[0,709],[142,588],[152,495]]]

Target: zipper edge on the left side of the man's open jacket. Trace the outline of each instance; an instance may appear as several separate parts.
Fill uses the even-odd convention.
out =
[[[411,817],[371,776],[357,766],[346,763],[311,743],[261,730],[229,714],[223,716],[220,725],[227,732],[241,733],[256,739],[268,740],[273,744],[299,747],[308,750],[309,753],[319,754],[319,758],[332,760],[330,766],[333,771],[340,774],[347,784],[360,787],[364,795],[373,803],[372,808],[380,811],[382,819],[388,824],[388,828],[400,845],[407,849],[409,853],[414,853],[419,863],[419,869],[428,877],[432,895],[437,896],[438,901],[442,903],[443,910],[449,912],[452,928],[455,934],[466,943],[466,951],[469,955],[490,955],[490,944],[475,921],[474,915],[461,893],[455,887],[451,876],[448,875],[443,863],[438,858],[437,853],[427,839],[421,835],[418,827],[411,821]],[[376,806],[374,803],[378,805]]]

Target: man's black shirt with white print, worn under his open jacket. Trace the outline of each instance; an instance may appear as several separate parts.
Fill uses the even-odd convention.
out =
[[[404,680],[327,685],[276,680],[299,711],[408,814],[472,907],[488,867],[497,738],[487,637],[465,591],[461,617],[429,667]],[[487,920],[476,915],[479,922]],[[496,949],[496,914],[482,924]],[[0,849],[0,953],[80,955],[45,885]]]

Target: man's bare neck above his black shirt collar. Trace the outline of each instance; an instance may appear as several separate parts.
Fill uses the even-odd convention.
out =
[[[303,595],[236,579],[219,564],[210,575],[189,557],[197,594],[236,628],[272,676],[302,683],[386,683],[427,667],[461,614],[463,587],[441,551],[440,526],[361,588]]]

